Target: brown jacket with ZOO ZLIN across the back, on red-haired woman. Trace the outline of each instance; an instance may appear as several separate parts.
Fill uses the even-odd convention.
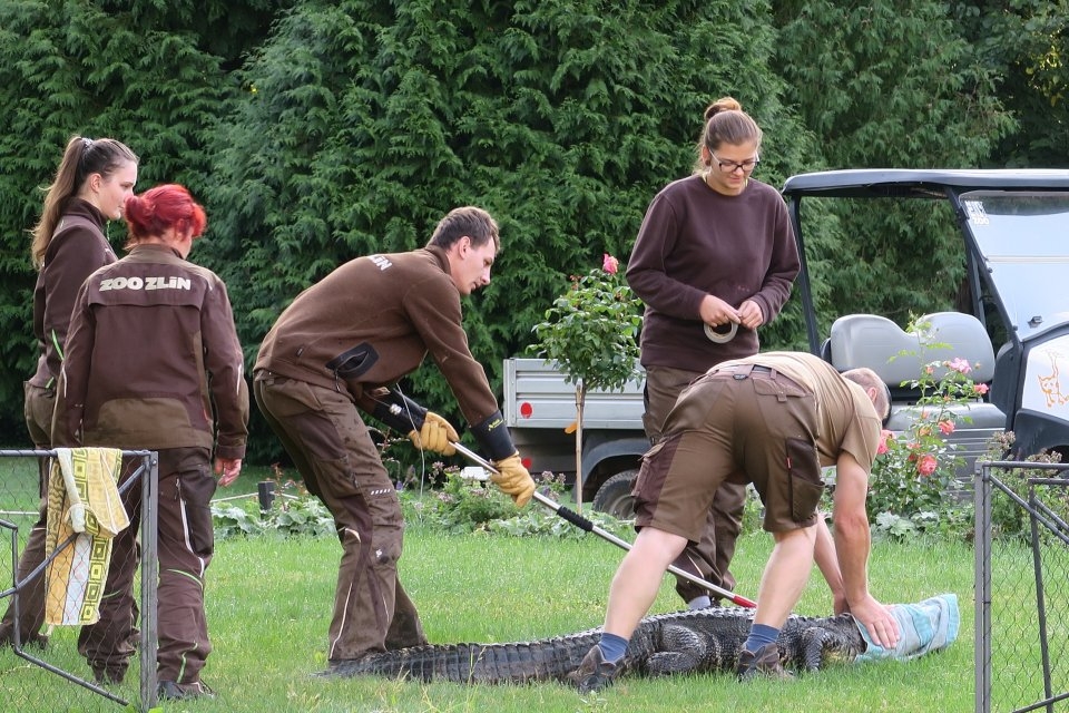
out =
[[[53,445],[214,446],[218,458],[244,458],[243,369],[223,281],[167,246],[137,245],[78,293]]]

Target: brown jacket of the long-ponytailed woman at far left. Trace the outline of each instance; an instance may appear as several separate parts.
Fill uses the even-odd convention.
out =
[[[104,225],[104,215],[92,205],[71,198],[45,252],[33,287],[33,335],[40,351],[30,378],[35,387],[56,385],[78,290],[95,270],[116,260]]]

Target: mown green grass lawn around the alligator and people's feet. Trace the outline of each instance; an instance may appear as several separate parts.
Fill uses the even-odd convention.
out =
[[[251,472],[219,495],[255,492]],[[537,507],[532,505],[531,507]],[[745,536],[734,570],[741,594],[756,597],[771,538]],[[972,711],[972,550],[952,543],[880,544],[871,564],[874,594],[918,602],[954,592],[959,639],[911,663],[841,665],[796,681],[737,683],[730,675],[626,680],[598,695],[559,684],[464,686],[379,678],[324,680],[326,629],[341,549],[335,539],[257,537],[217,545],[208,572],[208,617],[215,652],[204,678],[210,702],[167,704],[164,711],[263,713],[400,713],[408,711]],[[507,642],[547,637],[601,624],[609,580],[622,550],[588,535],[579,540],[443,536],[411,526],[402,579],[432,643]],[[665,579],[655,611],[679,608]],[[818,575],[798,613],[826,615],[831,598]],[[73,653],[76,631],[53,635],[48,656],[86,674]],[[116,691],[137,700],[136,682]],[[8,701],[4,701],[7,696]],[[71,684],[0,652],[0,711],[119,711]]]

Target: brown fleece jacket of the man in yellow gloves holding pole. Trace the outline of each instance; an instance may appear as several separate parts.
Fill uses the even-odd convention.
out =
[[[390,385],[430,352],[469,423],[498,412],[487,374],[468,349],[460,292],[444,251],[357,257],[297,295],[259,348],[254,370],[349,393]]]

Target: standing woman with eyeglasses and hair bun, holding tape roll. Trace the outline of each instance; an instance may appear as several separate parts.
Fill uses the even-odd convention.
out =
[[[791,296],[798,252],[779,192],[752,177],[761,139],[738,101],[709,105],[693,175],[654,197],[635,241],[627,281],[646,304],[643,421],[651,442],[687,384],[722,361],[757,353],[757,329]],[[745,486],[722,486],[702,541],[676,566],[734,588],[728,565],[745,499]],[[676,592],[692,608],[710,604],[709,593],[686,579],[677,578]]]

